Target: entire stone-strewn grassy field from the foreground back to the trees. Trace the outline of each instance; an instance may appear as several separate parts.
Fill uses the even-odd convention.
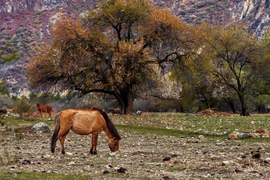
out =
[[[120,150],[110,156],[104,133],[98,137],[98,155],[87,153],[90,136],[79,136],[69,132],[65,149],[72,156],[60,154],[57,142],[55,155],[44,158],[49,152],[51,133],[30,132],[29,127],[45,122],[51,128],[53,120],[39,118],[6,117],[0,126],[0,179],[265,179],[268,164],[252,159],[250,151],[261,153],[262,158],[270,155],[270,138],[254,137],[227,140],[228,133],[253,132],[256,128],[270,129],[270,116],[210,117],[186,115],[184,113],[145,112],[136,115],[110,115],[122,140]],[[224,131],[227,131],[224,134]],[[203,135],[205,138],[199,139]],[[221,145],[216,145],[221,142]],[[162,161],[171,153],[178,154],[169,161]],[[237,161],[237,157],[242,160]],[[43,156],[43,157],[42,157]],[[29,159],[30,164],[23,164]],[[63,168],[70,161],[75,164]],[[234,164],[222,166],[222,160],[233,160]],[[38,162],[38,163],[37,163]],[[39,163],[40,162],[40,163]],[[102,174],[105,165],[123,166],[126,173]],[[12,165],[16,165],[12,168]],[[90,165],[91,171],[83,170]],[[218,169],[218,170],[217,170]],[[54,172],[54,173],[52,173]]]

